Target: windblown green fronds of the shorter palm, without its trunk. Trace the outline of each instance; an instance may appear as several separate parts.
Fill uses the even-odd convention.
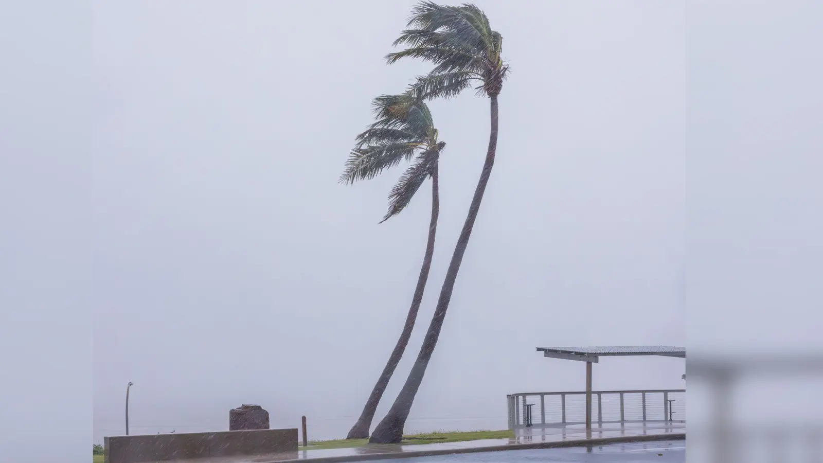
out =
[[[382,223],[406,208],[417,189],[435,172],[445,143],[437,139],[429,107],[410,91],[378,96],[372,109],[377,121],[357,136],[340,181],[351,184],[372,179],[384,169],[411,160],[412,165],[388,194],[388,213]]]

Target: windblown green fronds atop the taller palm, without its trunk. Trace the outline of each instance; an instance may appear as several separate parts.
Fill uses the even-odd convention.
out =
[[[421,58],[435,64],[412,84],[418,98],[450,98],[477,83],[479,95],[496,96],[503,87],[509,66],[500,54],[503,37],[491,30],[480,8],[464,3],[458,7],[421,2],[412,10],[408,27],[394,46],[407,49],[386,55],[391,64],[401,58]]]

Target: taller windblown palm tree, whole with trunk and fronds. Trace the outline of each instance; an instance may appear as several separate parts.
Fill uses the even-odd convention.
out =
[[[491,102],[491,134],[489,147],[486,150],[486,161],[483,163],[483,170],[480,180],[477,181],[477,189],[472,197],[466,222],[463,223],[463,230],[454,248],[443,288],[440,290],[435,315],[431,319],[420,353],[417,354],[406,383],[392,408],[388,410],[388,414],[374,428],[370,442],[375,443],[401,442],[403,427],[412,409],[412,402],[423,381],[431,354],[435,351],[454,290],[454,282],[457,279],[469,237],[472,235],[472,227],[474,227],[477,212],[480,210],[491,168],[495,164],[498,129],[497,96],[509,72],[509,67],[500,57],[502,36],[499,32],[491,30],[486,14],[472,4],[448,7],[434,2],[421,2],[412,10],[407,26],[412,29],[403,30],[394,45],[406,44],[408,48],[398,53],[388,54],[386,57],[388,63],[394,63],[401,58],[422,58],[435,64],[431,72],[417,77],[412,85],[412,93],[424,101],[457,96],[477,82],[479,85],[475,89],[478,95],[488,96]]]

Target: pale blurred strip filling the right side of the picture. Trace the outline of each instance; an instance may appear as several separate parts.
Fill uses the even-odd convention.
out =
[[[815,0],[689,2],[687,369],[731,358],[742,370],[724,405],[743,437],[704,433],[716,390],[690,370],[689,462],[820,455],[821,365],[751,360],[823,353],[823,66],[809,59],[821,18]],[[718,442],[728,454],[709,452]]]

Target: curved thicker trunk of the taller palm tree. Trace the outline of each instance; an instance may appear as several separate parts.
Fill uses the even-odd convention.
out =
[[[423,375],[425,375],[425,368],[429,365],[431,354],[435,352],[435,345],[440,335],[440,330],[443,328],[443,320],[446,316],[446,311],[449,309],[449,301],[452,298],[454,290],[454,282],[458,278],[458,271],[460,264],[463,262],[463,254],[466,252],[469,237],[472,236],[472,228],[474,221],[477,219],[477,212],[480,210],[480,203],[483,200],[483,193],[486,191],[486,185],[489,183],[491,175],[491,168],[495,165],[495,152],[497,151],[497,131],[498,131],[498,115],[497,115],[497,96],[491,95],[491,134],[489,136],[489,149],[486,151],[486,162],[483,164],[483,171],[480,175],[480,180],[477,181],[477,189],[474,191],[472,198],[472,205],[468,208],[468,216],[466,222],[463,223],[463,231],[460,232],[458,244],[454,247],[454,254],[449,263],[449,270],[446,273],[446,278],[443,282],[443,288],[440,289],[440,297],[435,308],[435,315],[432,317],[429,324],[429,330],[425,333],[423,346],[420,353],[417,354],[417,360],[412,367],[412,372],[403,385],[397,400],[394,400],[392,408],[388,410],[388,414],[383,420],[374,428],[369,442],[373,443],[399,443],[402,441],[403,427],[406,425],[409,412],[412,410],[412,402],[414,401],[417,390],[423,382]]]

